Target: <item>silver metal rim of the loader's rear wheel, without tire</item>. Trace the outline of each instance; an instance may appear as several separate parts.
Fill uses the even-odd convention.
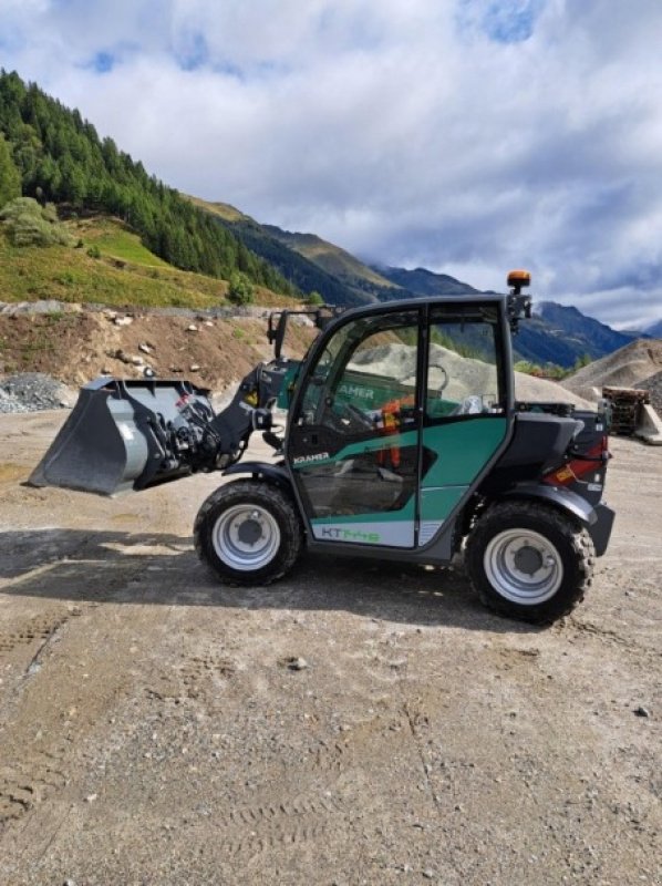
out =
[[[563,579],[559,552],[548,538],[530,529],[507,529],[495,535],[483,564],[497,594],[524,606],[549,600]]]

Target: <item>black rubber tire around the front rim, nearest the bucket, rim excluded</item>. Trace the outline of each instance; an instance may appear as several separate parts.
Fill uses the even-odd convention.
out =
[[[258,569],[234,569],[218,556],[214,530],[218,519],[237,505],[257,505],[271,514],[280,529],[280,544],[272,559]],[[203,503],[194,525],[198,556],[211,574],[226,585],[270,585],[290,571],[303,546],[303,529],[293,499],[266,481],[237,480],[219,486]]]

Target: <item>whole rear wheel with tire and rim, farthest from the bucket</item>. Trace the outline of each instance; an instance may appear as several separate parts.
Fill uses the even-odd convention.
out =
[[[500,615],[534,624],[554,621],[582,599],[594,558],[591,537],[578,522],[529,501],[489,507],[465,552],[483,602]]]

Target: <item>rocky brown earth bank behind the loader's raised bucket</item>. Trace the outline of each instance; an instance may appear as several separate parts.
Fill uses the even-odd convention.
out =
[[[58,302],[54,302],[58,306]],[[188,379],[224,391],[256,363],[271,359],[263,309],[256,316],[216,318],[157,311],[0,310],[0,378],[44,372],[76,390],[97,375],[142,378],[146,367],[159,378]],[[6,306],[17,310],[17,306]],[[310,327],[291,322],[287,353],[300,357],[313,338]]]

